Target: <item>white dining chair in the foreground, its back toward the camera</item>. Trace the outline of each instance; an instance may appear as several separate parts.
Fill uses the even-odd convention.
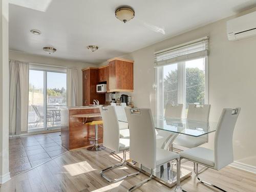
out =
[[[130,130],[130,159],[140,163],[140,171],[142,166],[151,169],[148,179],[128,190],[133,191],[152,179],[153,169],[156,167],[175,159],[178,165],[179,154],[156,147],[156,132],[150,109],[125,108],[125,113]],[[178,173],[178,184],[180,182],[179,175]]]

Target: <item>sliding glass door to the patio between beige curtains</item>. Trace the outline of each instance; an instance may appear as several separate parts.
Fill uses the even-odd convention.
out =
[[[60,127],[60,110],[67,106],[67,74],[29,70],[28,130]]]

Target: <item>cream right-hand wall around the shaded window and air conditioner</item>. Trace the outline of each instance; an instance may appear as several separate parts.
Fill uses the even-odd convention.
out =
[[[255,10],[254,8],[242,14]],[[242,111],[233,135],[234,159],[256,166],[256,125],[254,121],[256,116],[256,37],[228,41],[226,35],[228,19],[166,39],[121,57],[135,61],[134,104],[150,107],[154,112],[154,52],[209,36],[210,119],[218,121],[221,111],[225,107],[241,106]],[[213,138],[214,136],[210,135],[209,144],[206,146],[213,147]]]

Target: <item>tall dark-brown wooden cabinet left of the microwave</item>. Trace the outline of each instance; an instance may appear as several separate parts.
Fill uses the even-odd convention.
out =
[[[100,104],[105,104],[105,94],[96,93],[98,83],[98,68],[86,68],[82,70],[82,100],[83,105],[93,104],[98,99]]]

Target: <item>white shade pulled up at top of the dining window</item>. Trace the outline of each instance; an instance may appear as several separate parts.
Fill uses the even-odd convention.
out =
[[[155,67],[207,57],[209,37],[203,37],[186,44],[155,52]]]

